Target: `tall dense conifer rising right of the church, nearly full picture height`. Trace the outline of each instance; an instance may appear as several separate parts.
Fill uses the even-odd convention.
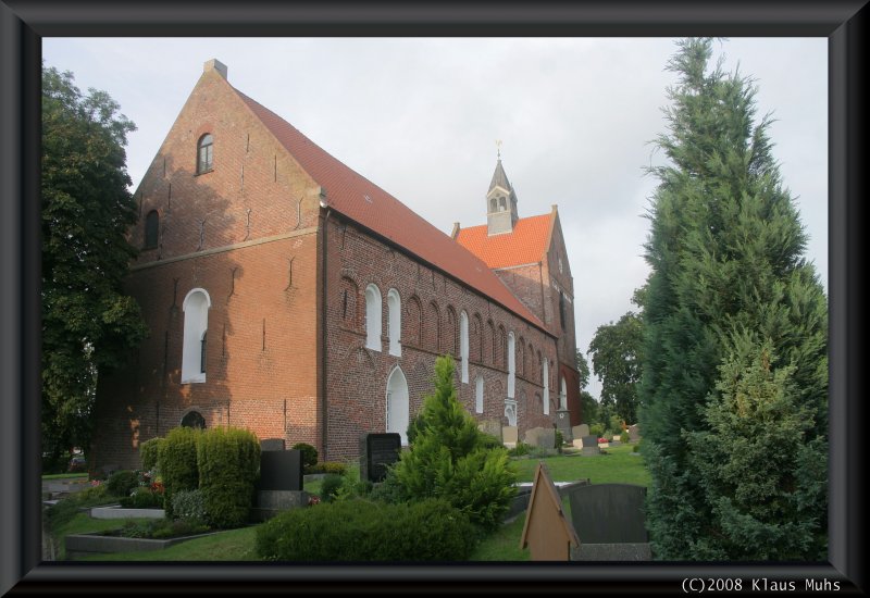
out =
[[[652,475],[647,523],[661,559],[816,558],[824,546],[826,471],[810,453],[826,453],[826,299],[803,258],[806,234],[771,153],[770,120],[756,123],[756,87],[724,73],[721,61],[711,68],[711,55],[710,39],[679,42],[668,65],[679,75],[668,90],[668,133],[656,144],[669,163],[652,169],[659,186],[646,244],[639,399]],[[753,356],[765,354],[766,365],[754,367]],[[756,410],[783,414],[765,421],[773,439],[766,450],[812,448],[794,453],[778,482],[800,509],[757,508],[769,498],[760,486],[756,496],[742,487],[741,500],[723,502],[739,477],[726,468],[743,462],[743,475],[758,477],[739,451],[750,451],[759,428],[731,416],[735,397],[747,393],[780,401],[780,411]],[[780,434],[783,426],[791,432]],[[753,538],[769,539],[762,528],[784,530],[810,511],[819,516],[801,527],[803,540],[747,549]]]

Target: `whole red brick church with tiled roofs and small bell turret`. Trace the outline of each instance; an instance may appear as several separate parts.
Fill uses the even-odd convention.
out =
[[[247,427],[352,458],[457,362],[482,423],[580,423],[559,214],[519,217],[500,159],[486,224],[447,235],[204,71],[135,192],[126,290],[150,336],[99,382],[96,466],[178,425]]]

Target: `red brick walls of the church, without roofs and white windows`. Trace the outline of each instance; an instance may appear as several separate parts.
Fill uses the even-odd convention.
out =
[[[457,382],[469,412],[508,423],[512,333],[520,434],[552,425],[569,347],[550,329],[554,313],[558,325],[550,285],[543,294],[546,325],[518,315],[331,207],[328,190],[270,127],[219,71],[207,68],[137,189],[140,221],[132,242],[146,247],[148,214],[157,212],[159,221],[156,247],[141,251],[127,281],[150,337],[124,372],[100,381],[96,465],[137,466],[138,444],[165,435],[191,411],[207,426],[248,427],[288,447],[312,444],[322,459],[352,458],[361,433],[386,428],[387,384],[396,367],[407,381],[408,415],[419,411],[435,357],[460,357],[463,313],[469,382],[459,382],[459,359]],[[204,134],[213,139],[213,167],[198,173]],[[552,267],[540,269],[544,279]],[[566,281],[570,285],[570,273]],[[382,298],[381,350],[366,348],[365,289],[372,284]],[[390,289],[400,303],[400,357],[389,350]],[[210,302],[207,340],[185,340],[185,298],[202,291]],[[567,325],[573,351],[573,322]],[[203,382],[183,382],[185,342],[204,347]],[[483,413],[475,413],[478,375]]]

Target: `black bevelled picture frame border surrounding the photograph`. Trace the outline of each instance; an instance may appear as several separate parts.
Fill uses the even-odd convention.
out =
[[[600,1],[600,0],[599,0]],[[0,593],[221,594],[360,590],[680,593],[683,578],[837,581],[866,587],[863,198],[866,0],[489,5],[355,5],[254,0],[148,3],[0,0]],[[818,36],[829,39],[830,550],[828,563],[452,563],[294,566],[275,563],[40,562],[39,99],[42,37],[87,36]]]

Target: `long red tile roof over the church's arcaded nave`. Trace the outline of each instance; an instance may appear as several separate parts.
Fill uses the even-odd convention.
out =
[[[489,297],[532,325],[540,322],[478,258],[381,187],[353,172],[284,119],[236,89],[300,166],[324,189],[330,208]]]

